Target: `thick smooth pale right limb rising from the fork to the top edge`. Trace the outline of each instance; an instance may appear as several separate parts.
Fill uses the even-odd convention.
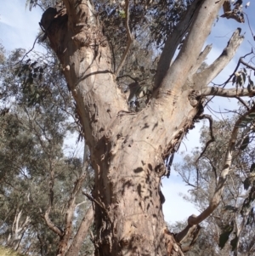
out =
[[[209,0],[201,0],[195,3],[195,12],[190,17],[192,22],[190,32],[176,60],[174,60],[173,65],[171,65],[161,82],[161,88],[159,89],[161,97],[166,97],[169,89],[176,93],[185,89],[190,69],[201,54],[203,43],[212,29],[212,23],[224,0],[213,3]]]

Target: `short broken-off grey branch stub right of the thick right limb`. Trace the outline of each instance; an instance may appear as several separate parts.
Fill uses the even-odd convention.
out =
[[[229,43],[226,48],[224,48],[222,54],[215,60],[212,65],[209,65],[204,71],[201,71],[195,74],[194,82],[199,85],[201,82],[203,84],[208,84],[215,77],[218,76],[218,73],[228,65],[229,61],[233,59],[237,48],[241,45],[244,37],[240,35],[241,28],[238,28],[232,35],[229,40]]]

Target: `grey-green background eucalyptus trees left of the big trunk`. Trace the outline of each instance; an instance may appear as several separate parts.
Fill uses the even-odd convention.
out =
[[[79,132],[75,106],[68,90],[59,90],[64,80],[50,51],[20,65],[24,53],[4,56],[0,68],[0,241],[33,255],[64,255],[63,247],[69,255],[92,253],[83,241],[94,213],[82,195],[93,185],[88,147],[84,162],[64,147],[64,139]]]

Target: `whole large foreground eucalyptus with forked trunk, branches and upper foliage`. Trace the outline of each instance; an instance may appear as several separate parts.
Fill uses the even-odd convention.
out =
[[[209,86],[243,41],[241,29],[212,65],[201,68],[212,46],[202,48],[219,10],[224,7],[226,20],[244,22],[241,2],[28,2],[49,7],[40,22],[41,40],[48,38],[59,58],[91,153],[96,255],[182,255],[178,242],[196,236],[199,223],[218,207],[241,118],[230,132],[209,206],[190,216],[176,236],[163,218],[160,184],[167,157],[173,160],[184,135],[205,117],[207,97],[254,95],[252,82],[244,88],[244,72],[231,76],[237,88]],[[139,62],[144,56],[151,68]],[[252,105],[243,117],[253,111]]]

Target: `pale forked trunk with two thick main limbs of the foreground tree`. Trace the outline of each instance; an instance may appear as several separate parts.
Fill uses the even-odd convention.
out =
[[[169,35],[157,70],[161,74],[156,80],[158,91],[143,111],[132,115],[117,87],[111,51],[94,7],[88,0],[64,3],[65,9],[46,10],[41,25],[77,101],[91,152],[95,254],[183,255],[167,231],[161,209],[160,183],[166,174],[163,161],[167,153],[178,150],[203,109],[204,94],[199,90],[207,88],[210,81],[198,83],[195,76],[210,50],[201,54],[224,1],[191,3],[182,21],[184,32],[189,31],[184,46],[169,66],[180,39],[174,32],[173,37]],[[235,54],[238,46],[229,43],[228,47]],[[212,78],[217,74],[210,71]]]

